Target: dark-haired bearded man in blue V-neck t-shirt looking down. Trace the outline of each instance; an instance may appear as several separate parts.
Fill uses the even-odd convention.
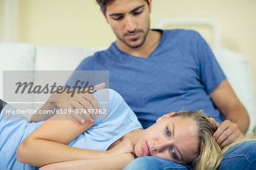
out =
[[[109,88],[122,95],[144,128],[171,111],[203,109],[218,126],[213,138],[221,148],[243,137],[249,115],[197,32],[150,30],[151,0],[97,2],[117,41],[84,59],[77,71],[109,71]],[[151,156],[127,168],[142,165],[186,168]]]

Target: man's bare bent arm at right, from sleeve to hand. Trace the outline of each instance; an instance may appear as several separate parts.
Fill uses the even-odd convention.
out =
[[[227,80],[221,82],[217,88],[210,93],[214,105],[220,110],[225,120],[213,134],[221,147],[232,143],[243,137],[249,127],[250,119],[245,107],[237,98]]]

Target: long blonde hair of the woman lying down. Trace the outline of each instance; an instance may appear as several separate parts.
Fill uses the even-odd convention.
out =
[[[192,157],[192,161],[189,163],[193,169],[217,169],[220,165],[223,155],[230,148],[238,146],[242,142],[248,140],[256,140],[255,136],[243,138],[234,142],[221,150],[217,142],[213,139],[212,135],[217,130],[217,126],[210,121],[208,115],[202,111],[179,111],[171,117],[180,116],[184,119],[192,120],[197,126],[197,132],[199,134],[199,149],[198,154]]]

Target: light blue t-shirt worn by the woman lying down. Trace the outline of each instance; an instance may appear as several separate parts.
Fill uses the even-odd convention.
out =
[[[69,143],[69,146],[106,151],[115,140],[135,129],[142,128],[134,112],[117,92],[102,89],[94,94],[101,109],[106,109],[109,116],[99,114],[94,125]],[[106,94],[109,95],[107,105],[106,100],[102,101],[102,98],[106,98]],[[14,108],[6,105],[0,114],[0,169],[39,169],[39,167],[19,163],[16,160],[16,148],[44,121],[30,123],[23,115],[5,114],[7,110],[14,110]],[[8,119],[16,119],[16,121],[7,121]]]

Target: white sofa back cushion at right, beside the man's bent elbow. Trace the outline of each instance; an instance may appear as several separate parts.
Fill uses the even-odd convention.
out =
[[[248,60],[236,52],[225,49],[214,50],[214,55],[237,97],[249,113],[249,129],[252,130],[256,126],[255,92]]]

